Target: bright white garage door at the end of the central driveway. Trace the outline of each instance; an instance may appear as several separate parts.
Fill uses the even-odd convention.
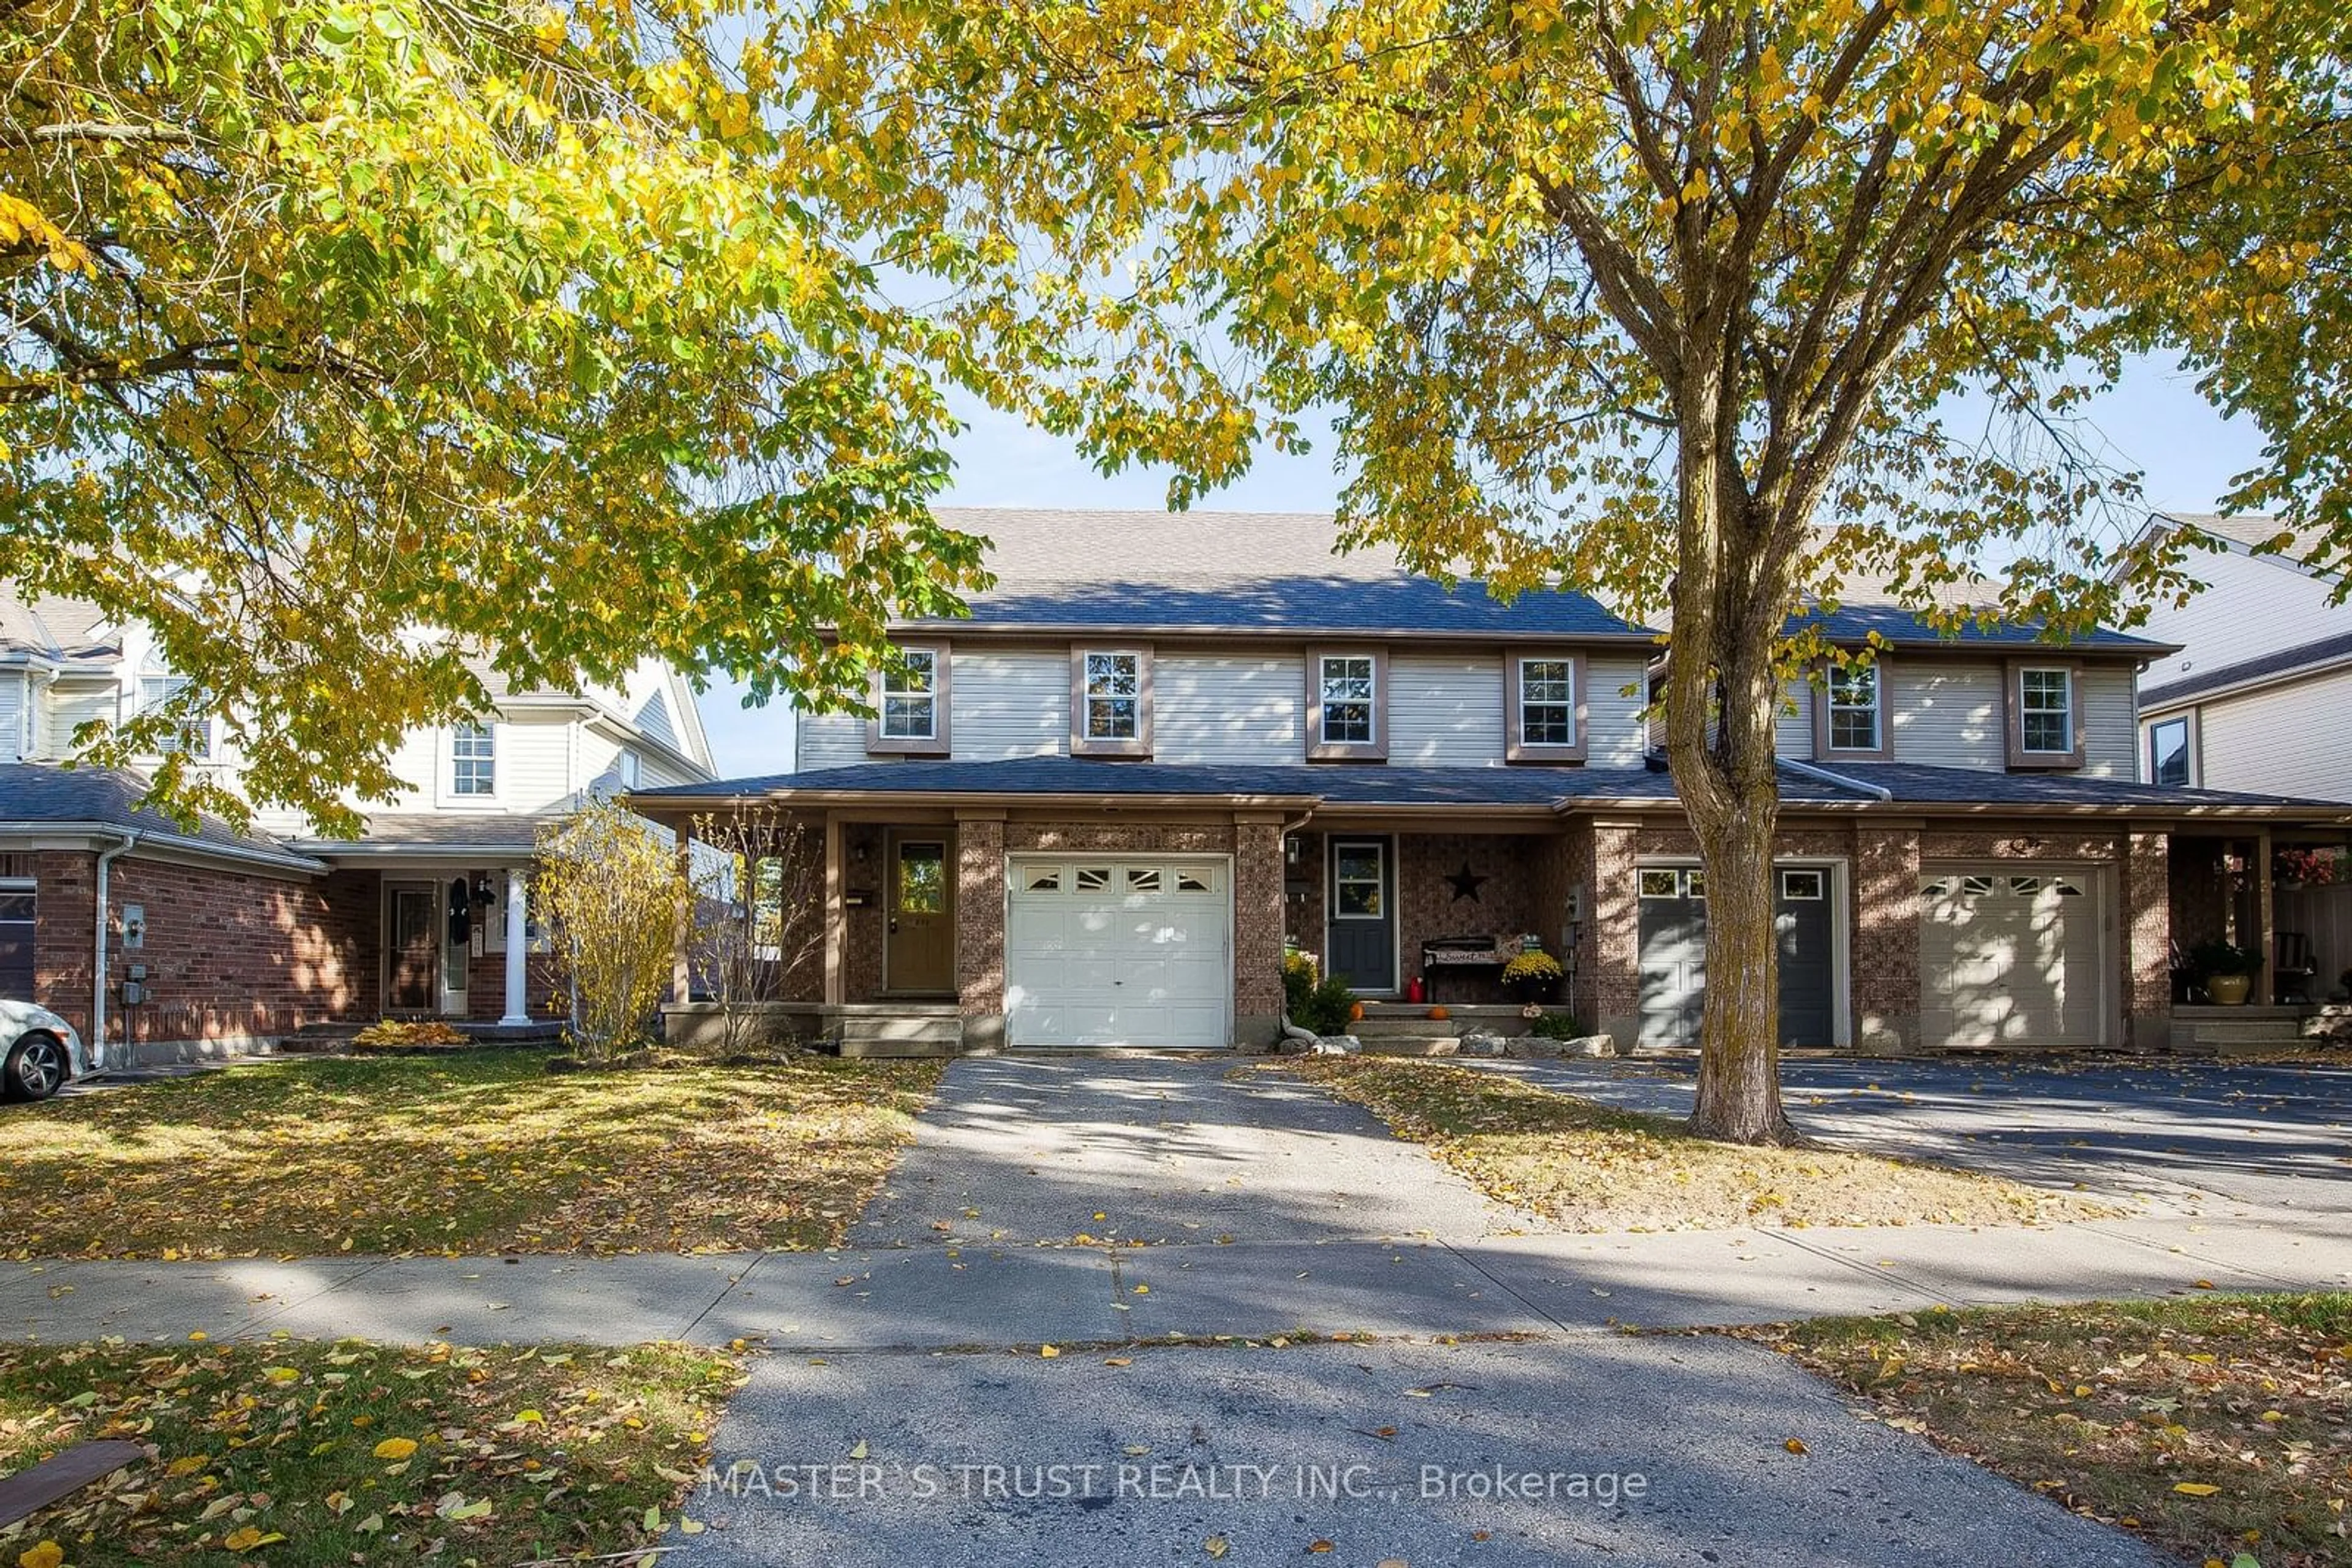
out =
[[[1232,1044],[1223,860],[1016,858],[1009,872],[1007,1044]]]

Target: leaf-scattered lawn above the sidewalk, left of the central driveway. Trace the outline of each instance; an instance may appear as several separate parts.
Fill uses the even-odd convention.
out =
[[[14,1258],[840,1244],[938,1063],[315,1058],[9,1107]]]

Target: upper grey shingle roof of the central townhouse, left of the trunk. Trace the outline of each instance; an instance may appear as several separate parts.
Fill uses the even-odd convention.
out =
[[[1651,639],[1581,592],[1503,604],[1482,583],[1411,574],[1385,545],[1343,555],[1327,512],[938,508],[938,520],[988,538],[997,583],[969,597],[969,618],[906,628]]]

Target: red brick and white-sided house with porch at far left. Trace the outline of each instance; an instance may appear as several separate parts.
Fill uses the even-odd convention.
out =
[[[153,639],[92,604],[0,597],[0,994],[106,1037],[113,1060],[381,1016],[543,1020],[539,827],[590,788],[708,780],[710,750],[691,689],[654,663],[586,696],[480,675],[494,710],[407,736],[393,766],[414,788],[369,806],[360,839],[285,811],[188,832],[139,809],[141,773],[64,766],[82,722],[183,684]],[[235,785],[221,729],[191,724],[174,750]]]

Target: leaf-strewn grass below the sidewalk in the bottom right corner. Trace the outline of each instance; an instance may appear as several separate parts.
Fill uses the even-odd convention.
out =
[[[2190,1563],[2352,1561],[2352,1295],[1987,1307],[1743,1331]]]

